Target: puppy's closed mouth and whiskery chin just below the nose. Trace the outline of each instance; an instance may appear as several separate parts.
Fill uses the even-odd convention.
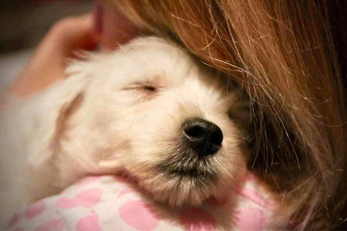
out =
[[[222,190],[215,158],[199,158],[189,153],[168,157],[153,166],[154,174],[144,187],[156,201],[174,206],[200,205],[214,195],[217,188]]]

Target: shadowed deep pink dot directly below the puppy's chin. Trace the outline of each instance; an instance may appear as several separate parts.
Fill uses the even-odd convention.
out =
[[[189,208],[188,210],[182,211],[180,221],[185,229],[190,231],[217,229],[217,224],[213,216],[200,208]]]

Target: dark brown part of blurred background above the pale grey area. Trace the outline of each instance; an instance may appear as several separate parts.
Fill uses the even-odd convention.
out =
[[[6,0],[0,3],[0,53],[35,46],[58,19],[92,10],[92,0]]]

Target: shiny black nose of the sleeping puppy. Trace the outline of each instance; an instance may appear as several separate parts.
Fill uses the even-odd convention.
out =
[[[204,119],[191,118],[183,126],[189,144],[199,157],[212,155],[219,150],[223,133],[217,125]]]

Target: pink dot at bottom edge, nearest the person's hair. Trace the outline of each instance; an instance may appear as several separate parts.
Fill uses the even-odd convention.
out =
[[[268,217],[257,208],[241,208],[236,212],[235,225],[239,230],[264,230]]]

